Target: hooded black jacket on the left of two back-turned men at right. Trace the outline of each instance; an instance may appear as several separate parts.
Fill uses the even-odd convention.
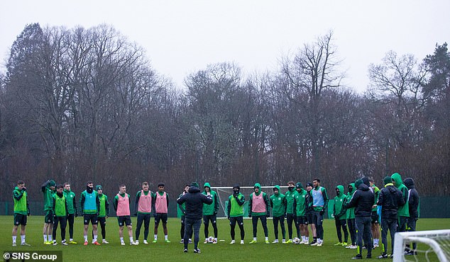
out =
[[[375,197],[369,187],[361,179],[355,181],[358,188],[346,208],[355,207],[355,217],[371,217]]]

